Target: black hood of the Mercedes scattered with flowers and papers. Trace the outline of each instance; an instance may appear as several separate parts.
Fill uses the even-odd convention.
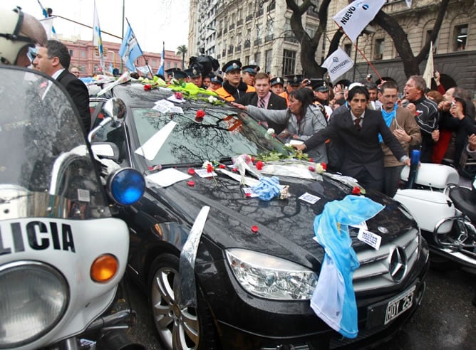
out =
[[[179,170],[187,172],[187,169]],[[310,268],[319,268],[324,258],[324,249],[314,240],[314,219],[326,203],[339,201],[352,192],[351,186],[327,176],[322,176],[320,181],[279,176],[279,184],[289,186],[289,198],[262,201],[245,196],[239,182],[225,174],[209,178],[195,175],[192,181],[194,186],[187,181],[166,188],[152,184],[149,191],[160,192],[162,200],[174,206],[175,211],[181,211],[190,226],[200,208],[209,206],[203,234],[222,249],[257,250]],[[299,199],[304,193],[320,199],[314,204],[307,203]],[[382,244],[416,227],[415,221],[391,198],[376,191],[369,191],[366,196],[385,206],[367,221],[368,230],[381,235]],[[257,226],[257,233],[252,226]],[[357,232],[350,229],[354,250],[369,249],[370,246],[356,238]]]

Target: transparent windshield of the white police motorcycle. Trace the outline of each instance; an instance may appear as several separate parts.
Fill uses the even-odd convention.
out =
[[[110,216],[71,98],[34,70],[0,80],[0,220]]]

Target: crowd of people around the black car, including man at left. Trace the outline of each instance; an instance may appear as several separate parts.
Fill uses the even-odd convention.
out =
[[[0,38],[1,62],[29,66],[58,80],[71,95],[90,129],[88,89],[63,43],[46,40],[41,24],[19,9],[4,11],[9,36]],[[15,39],[16,38],[16,39]],[[29,47],[38,46],[33,61]],[[198,62],[197,62],[198,61]],[[284,142],[305,150],[315,161],[358,179],[364,187],[393,196],[400,171],[410,164],[410,153],[420,150],[420,161],[453,164],[465,173],[467,159],[476,158],[475,105],[467,92],[443,87],[435,72],[437,90],[429,90],[420,75],[403,87],[391,79],[373,82],[341,80],[332,85],[300,74],[274,77],[256,64],[231,60],[200,64],[187,70],[166,70],[165,80],[183,79],[213,90],[222,99],[247,110]],[[286,82],[286,83],[285,83]],[[291,142],[293,141],[293,142]]]

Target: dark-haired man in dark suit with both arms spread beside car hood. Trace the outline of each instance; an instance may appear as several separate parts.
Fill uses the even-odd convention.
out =
[[[349,90],[347,101],[350,110],[331,117],[328,127],[295,147],[312,149],[326,139],[338,137],[345,149],[342,174],[357,179],[365,189],[382,191],[383,152],[378,134],[382,135],[383,142],[399,161],[409,166],[410,159],[388,129],[381,112],[366,109],[368,98],[368,91],[363,86]]]

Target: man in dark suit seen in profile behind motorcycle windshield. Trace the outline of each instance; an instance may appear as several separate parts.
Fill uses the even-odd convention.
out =
[[[46,46],[40,46],[33,60],[35,68],[41,70],[63,85],[78,109],[84,132],[87,135],[91,126],[89,110],[89,92],[86,85],[68,71],[71,56],[68,48],[56,40],[48,40]]]

